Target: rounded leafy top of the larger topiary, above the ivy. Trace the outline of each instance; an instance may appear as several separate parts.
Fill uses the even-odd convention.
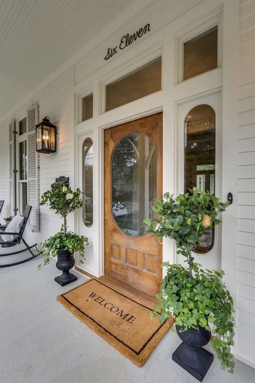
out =
[[[193,188],[189,193],[179,194],[175,199],[173,194],[165,193],[161,200],[151,206],[151,210],[158,214],[152,221],[143,220],[149,228],[146,232],[156,235],[158,240],[170,237],[175,240],[189,264],[189,275],[192,278],[193,260],[191,248],[200,245],[204,230],[221,223],[216,217],[226,210],[229,202],[221,202],[218,197],[201,192]]]

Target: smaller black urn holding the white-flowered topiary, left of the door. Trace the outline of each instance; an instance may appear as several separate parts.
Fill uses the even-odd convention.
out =
[[[56,268],[62,271],[62,274],[59,277],[55,278],[55,281],[60,286],[66,286],[69,283],[77,281],[77,277],[72,273],[69,273],[69,270],[74,267],[75,259],[73,253],[70,253],[64,248],[57,250],[57,262]]]

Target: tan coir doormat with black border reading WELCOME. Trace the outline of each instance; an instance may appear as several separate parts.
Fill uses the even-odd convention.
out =
[[[96,278],[57,296],[57,301],[138,367],[171,327],[169,320],[162,325],[151,320],[152,310],[138,299]]]

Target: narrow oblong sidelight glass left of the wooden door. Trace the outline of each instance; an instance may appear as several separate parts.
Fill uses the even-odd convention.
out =
[[[93,141],[86,138],[82,148],[83,222],[90,227],[93,223]]]

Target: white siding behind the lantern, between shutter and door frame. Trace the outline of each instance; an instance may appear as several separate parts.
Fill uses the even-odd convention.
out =
[[[57,127],[57,152],[39,154],[39,195],[50,189],[51,184],[60,176],[69,177],[73,187],[72,169],[73,128],[70,126],[70,73],[59,76],[39,97],[39,121],[49,116]],[[68,219],[69,221],[69,219]],[[40,206],[40,233],[45,239],[60,230],[61,218],[46,205]],[[71,223],[68,223],[71,224]],[[69,227],[74,230],[73,227]]]

